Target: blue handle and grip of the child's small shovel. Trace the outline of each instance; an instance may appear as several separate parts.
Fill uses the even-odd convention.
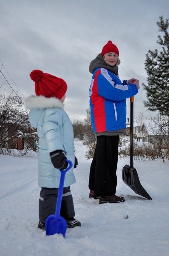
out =
[[[60,215],[60,209],[62,204],[62,195],[63,195],[63,187],[64,187],[64,180],[65,180],[65,174],[67,171],[69,171],[72,167],[72,162],[68,159],[65,159],[66,162],[68,162],[68,167],[65,170],[59,169],[61,176],[60,176],[60,183],[59,183],[59,190],[58,190],[58,197],[57,197],[57,204],[56,204],[56,212],[55,216]]]

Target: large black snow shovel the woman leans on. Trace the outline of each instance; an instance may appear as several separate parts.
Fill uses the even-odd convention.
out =
[[[134,97],[130,98],[130,166],[125,165],[122,170],[122,180],[126,183],[136,194],[152,200],[151,196],[141,186],[138,173],[133,167],[133,105]]]

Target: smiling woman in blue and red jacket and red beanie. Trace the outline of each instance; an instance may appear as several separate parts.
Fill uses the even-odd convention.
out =
[[[116,196],[118,138],[126,133],[126,98],[138,93],[139,80],[118,78],[118,48],[109,41],[95,58],[89,71],[93,74],[89,89],[91,121],[97,144],[89,174],[89,198],[99,203],[120,203]]]

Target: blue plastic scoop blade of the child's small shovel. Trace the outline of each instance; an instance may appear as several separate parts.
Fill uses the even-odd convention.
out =
[[[49,215],[46,219],[45,227],[46,235],[63,234],[65,236],[67,222],[60,215]]]

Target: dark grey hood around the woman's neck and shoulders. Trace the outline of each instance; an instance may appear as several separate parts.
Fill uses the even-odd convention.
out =
[[[97,68],[105,68],[107,70],[110,70],[113,74],[118,75],[118,66],[107,65],[101,53],[99,53],[99,55],[97,55],[97,57],[91,61],[89,65],[89,72],[93,74],[94,70]]]

